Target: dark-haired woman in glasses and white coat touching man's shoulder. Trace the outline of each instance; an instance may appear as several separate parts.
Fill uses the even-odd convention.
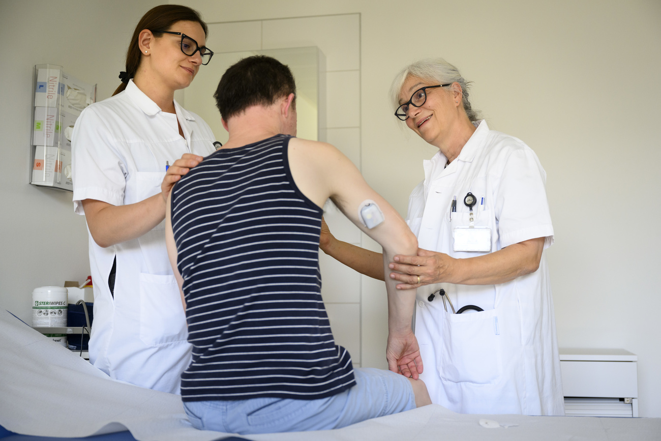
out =
[[[87,220],[94,281],[90,361],[112,378],[171,393],[190,345],[165,249],[165,200],[215,141],[174,94],[212,58],[206,36],[193,9],[148,11],[132,36],[122,85],[86,108],[73,132],[73,204]]]

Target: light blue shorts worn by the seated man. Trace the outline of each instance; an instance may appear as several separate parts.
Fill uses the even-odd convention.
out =
[[[332,397],[184,401],[184,409],[198,429],[255,434],[328,430],[415,408],[405,376],[372,368],[356,368],[354,375],[356,385]]]

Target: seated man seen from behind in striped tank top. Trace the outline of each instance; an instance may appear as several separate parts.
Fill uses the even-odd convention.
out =
[[[386,282],[393,372],[352,367],[321,299],[327,198],[383,246],[385,265],[416,253],[405,221],[335,147],[292,137],[295,84],[280,61],[239,61],[214,97],[229,140],[177,182],[166,210],[193,345],[181,383],[192,424],[240,434],[323,430],[430,404],[414,380],[422,372],[414,290]]]

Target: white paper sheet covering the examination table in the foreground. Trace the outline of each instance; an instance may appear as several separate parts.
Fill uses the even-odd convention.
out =
[[[0,425],[7,430],[73,438],[128,429],[141,441],[223,438],[219,432],[193,428],[178,395],[112,380],[4,310],[0,310],[0,335]],[[485,430],[482,420],[508,429]],[[658,418],[465,415],[430,405],[336,430],[242,437],[254,441],[610,441],[658,440],[660,433]]]

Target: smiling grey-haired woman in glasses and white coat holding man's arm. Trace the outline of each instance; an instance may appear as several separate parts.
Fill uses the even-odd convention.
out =
[[[395,116],[438,147],[408,203],[416,256],[387,276],[417,288],[415,334],[432,402],[460,413],[564,415],[544,250],[553,244],[546,173],[517,138],[490,130],[469,82],[442,59],[393,81]],[[325,253],[383,280],[381,255],[335,239]]]

